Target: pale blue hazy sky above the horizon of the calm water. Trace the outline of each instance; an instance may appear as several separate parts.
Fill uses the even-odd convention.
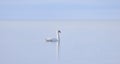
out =
[[[120,19],[120,0],[0,0],[0,20]]]

